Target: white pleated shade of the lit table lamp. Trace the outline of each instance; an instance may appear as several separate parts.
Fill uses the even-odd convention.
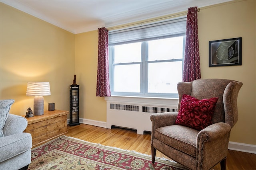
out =
[[[51,95],[49,82],[28,82],[26,96]]]

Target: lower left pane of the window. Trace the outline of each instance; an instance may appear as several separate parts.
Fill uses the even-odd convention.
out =
[[[140,92],[140,64],[114,66],[114,92]]]

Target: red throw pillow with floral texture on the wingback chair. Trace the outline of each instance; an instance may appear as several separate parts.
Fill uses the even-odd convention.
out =
[[[180,110],[175,123],[191,127],[198,131],[212,124],[212,115],[218,98],[198,100],[184,94],[180,102]]]

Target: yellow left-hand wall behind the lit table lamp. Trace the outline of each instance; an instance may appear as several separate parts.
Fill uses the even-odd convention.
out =
[[[14,99],[10,112],[25,115],[33,96],[30,81],[50,82],[44,110],[69,110],[69,84],[74,74],[74,34],[1,3],[1,99]]]

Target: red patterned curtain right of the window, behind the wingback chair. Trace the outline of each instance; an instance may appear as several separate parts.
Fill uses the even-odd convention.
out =
[[[188,8],[186,45],[183,65],[183,82],[191,82],[201,79],[198,29],[197,29],[197,7]]]

